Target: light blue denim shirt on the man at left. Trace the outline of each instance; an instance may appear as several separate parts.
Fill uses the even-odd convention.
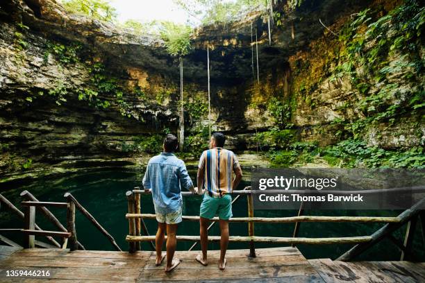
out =
[[[149,160],[143,178],[144,189],[152,190],[155,212],[176,212],[183,205],[181,187],[192,189],[185,162],[172,153],[161,153]]]

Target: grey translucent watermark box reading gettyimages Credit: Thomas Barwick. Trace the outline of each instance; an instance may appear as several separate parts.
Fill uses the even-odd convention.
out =
[[[425,169],[253,169],[251,187],[254,209],[408,209]]]

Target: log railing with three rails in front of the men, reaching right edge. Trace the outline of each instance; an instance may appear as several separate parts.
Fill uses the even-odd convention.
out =
[[[246,188],[247,189],[247,188]],[[353,192],[361,192],[365,194],[378,194],[383,192],[395,192],[395,191],[409,191],[414,192],[425,192],[425,187],[408,187],[408,188],[391,188],[391,189],[372,189],[372,190],[361,190],[361,191],[336,191],[338,194],[352,194]],[[326,192],[332,192],[335,194],[335,191],[294,191],[294,190],[242,190],[242,191],[233,191],[233,195],[247,195],[248,202],[250,198],[252,199],[253,194],[282,194],[282,193],[313,193],[313,194],[326,194]],[[133,191],[127,191],[126,196],[128,198],[128,214],[126,218],[130,225],[130,233],[126,237],[126,241],[130,244],[130,252],[135,250],[135,243],[140,241],[153,241],[155,236],[140,236],[135,234],[134,223],[136,219],[154,219],[156,216],[154,214],[142,214],[135,213],[134,207],[134,195],[135,194],[151,194],[149,191],[144,191],[140,189],[133,189]],[[181,192],[183,196],[194,196],[192,192],[184,191]],[[278,217],[278,218],[267,218],[267,217],[254,217],[249,209],[249,217],[239,217],[239,218],[230,218],[229,222],[247,222],[249,223],[249,236],[233,236],[229,237],[229,241],[238,241],[238,242],[249,242],[250,243],[250,256],[255,257],[255,249],[253,247],[254,242],[268,242],[268,243],[290,243],[292,245],[296,243],[308,243],[308,244],[324,244],[324,243],[357,243],[357,245],[346,252],[344,255],[339,257],[339,260],[349,260],[352,257],[359,255],[361,252],[372,246],[374,243],[381,241],[384,237],[387,237],[390,232],[400,228],[401,225],[408,221],[413,221],[412,217],[417,217],[420,213],[422,205],[425,203],[425,198],[419,200],[415,205],[406,209],[403,213],[399,214],[397,217],[378,217],[378,216],[292,216],[292,217]],[[248,203],[249,207],[249,203]],[[301,209],[301,208],[300,208]],[[301,214],[301,213],[299,213]],[[199,221],[199,216],[182,216],[185,221]],[[211,219],[211,221],[219,221],[217,217]],[[331,237],[331,238],[300,238],[296,237],[258,237],[253,235],[253,225],[250,224],[254,222],[263,222],[263,223],[300,223],[300,222],[363,222],[363,223],[386,223],[383,228],[376,231],[371,236],[360,236],[360,237]],[[408,231],[406,234],[405,242],[411,243],[412,232]],[[187,235],[178,235],[177,239],[180,241],[199,241],[199,236],[187,236]],[[208,241],[219,241],[220,237],[212,236],[208,237]],[[411,246],[411,244],[410,244]],[[133,247],[133,248],[132,248]],[[410,253],[409,245],[405,243],[403,248],[403,253]],[[403,258],[403,254],[401,256]]]

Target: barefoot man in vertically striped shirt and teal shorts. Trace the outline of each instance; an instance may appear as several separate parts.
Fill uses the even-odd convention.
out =
[[[198,188],[204,188],[200,209],[200,230],[202,255],[197,261],[203,266],[208,264],[208,224],[217,214],[221,232],[219,269],[226,268],[226,250],[228,245],[228,218],[232,217],[232,197],[230,194],[238,187],[242,179],[242,170],[238,157],[232,151],[223,148],[226,137],[215,132],[210,139],[210,149],[204,151],[198,166]],[[233,178],[235,173],[235,178]]]

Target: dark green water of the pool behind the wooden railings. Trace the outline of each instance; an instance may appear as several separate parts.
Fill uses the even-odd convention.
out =
[[[238,189],[249,185],[249,172],[245,170],[246,176]],[[192,180],[196,177],[194,168],[189,169]],[[248,174],[247,174],[248,173]],[[103,225],[110,234],[113,235],[122,250],[128,249],[125,241],[128,234],[128,221],[125,218],[127,212],[127,202],[125,192],[140,186],[142,171],[97,171],[94,173],[85,173],[78,175],[68,175],[60,179],[40,179],[36,182],[26,182],[24,184],[3,184],[0,185],[0,191],[12,203],[21,209],[19,203],[22,199],[19,193],[28,190],[38,200],[44,201],[64,201],[63,194],[69,191],[88,211]],[[184,198],[183,214],[199,215],[200,196],[190,196]],[[62,223],[66,223],[65,209],[51,208]],[[153,213],[153,203],[151,196],[142,196],[142,212]],[[333,211],[307,211],[310,215],[328,215],[328,216],[397,216],[399,211],[353,211],[353,210],[333,210]],[[295,216],[294,210],[256,210],[255,216],[276,217],[276,216]],[[233,216],[247,216],[246,196],[241,198],[233,205]],[[57,230],[51,223],[45,220],[44,216],[38,213],[36,222],[44,230]],[[145,221],[150,234],[156,232],[156,221]],[[302,223],[299,230],[299,237],[353,237],[372,234],[383,224],[379,223]],[[0,228],[22,228],[23,222],[14,214],[8,212],[5,207],[0,209]],[[422,241],[422,232],[417,225],[415,234],[414,250],[415,256],[420,261],[425,261],[424,242]],[[294,224],[288,223],[256,223],[255,234],[258,236],[292,237]],[[403,239],[406,228],[394,232],[394,237]],[[76,214],[76,232],[78,241],[83,243],[88,250],[113,250],[113,246],[106,237],[103,236],[94,226],[77,211]],[[247,223],[231,223],[231,235],[247,235]],[[22,234],[13,232],[4,232],[6,237],[19,243],[23,242]],[[198,235],[199,223],[183,222],[178,227],[178,234]],[[210,235],[219,235],[218,225],[210,230]],[[47,241],[45,238],[38,238]],[[192,246],[191,242],[179,242],[178,250],[188,250]],[[229,248],[247,248],[247,243],[230,243]],[[275,247],[276,244],[256,243],[258,248]],[[349,250],[352,245],[299,245],[303,255],[307,258],[331,258],[335,259]],[[143,243],[142,248],[149,250],[147,243]],[[196,249],[199,249],[197,246]],[[219,249],[219,243],[210,243],[210,249]],[[364,253],[358,259],[367,260],[398,260],[399,250],[390,242],[384,239],[378,245]]]

